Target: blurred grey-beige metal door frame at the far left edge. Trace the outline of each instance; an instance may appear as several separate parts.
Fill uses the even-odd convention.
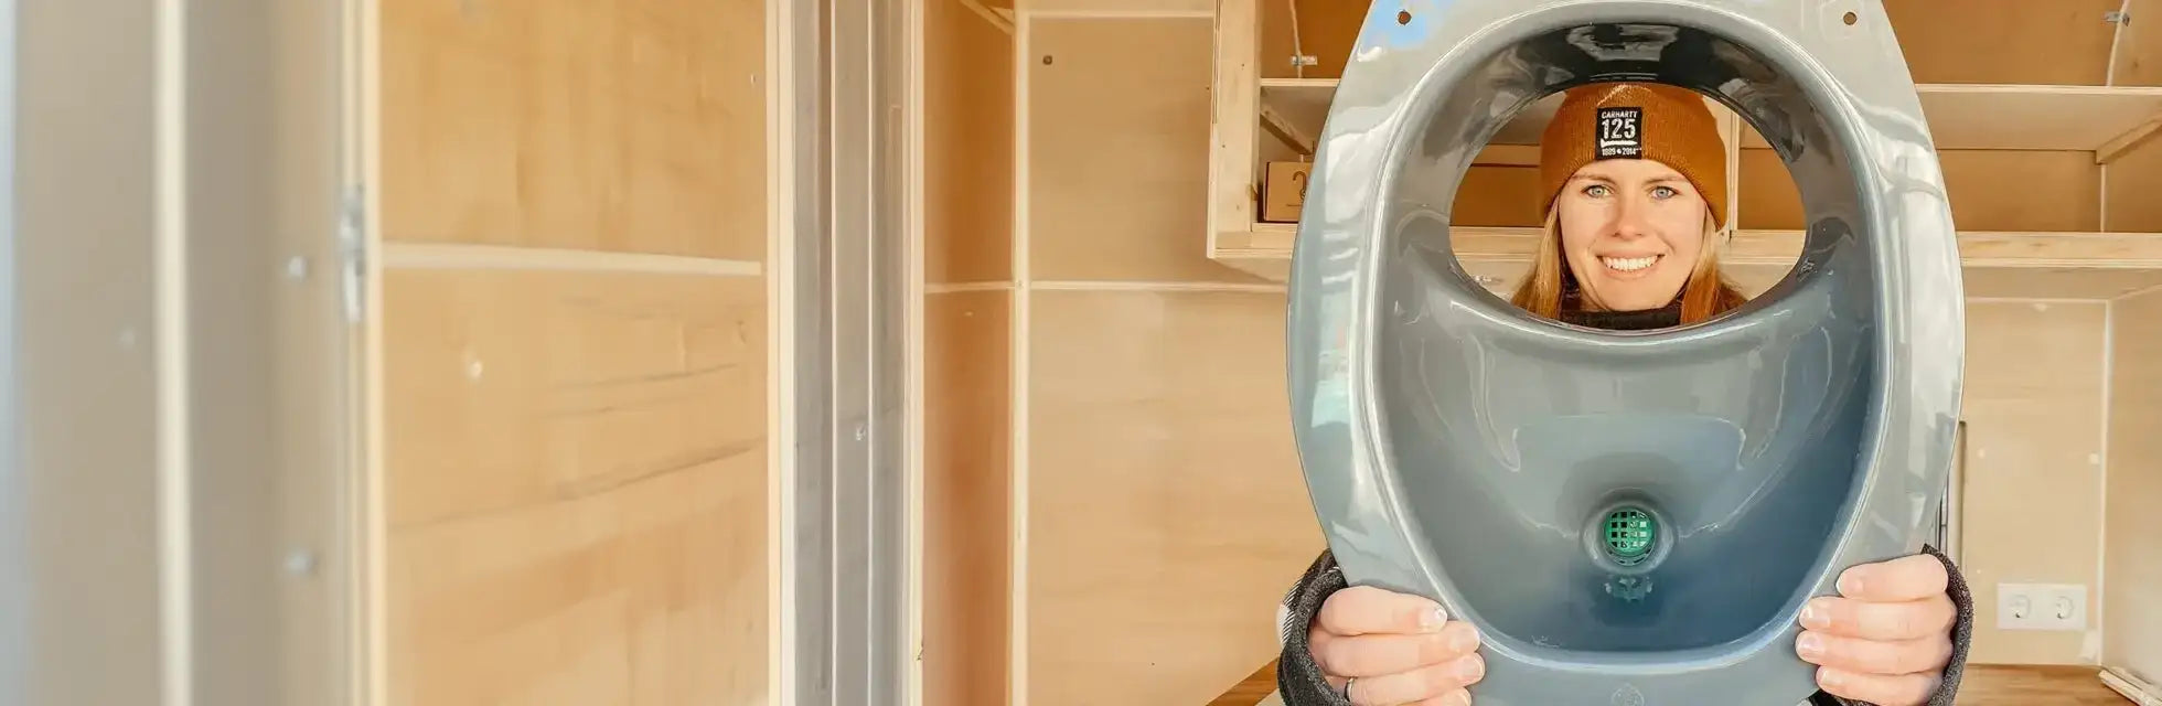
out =
[[[344,2],[0,0],[0,704],[344,704]]]

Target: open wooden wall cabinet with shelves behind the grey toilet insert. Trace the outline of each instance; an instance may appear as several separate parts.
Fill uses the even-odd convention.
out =
[[[1885,6],[1939,149],[1967,294],[2106,300],[2162,285],[2162,205],[2149,196],[2162,186],[2151,140],[2162,130],[2162,39],[2125,24],[2117,0]],[[1265,166],[1310,158],[1366,9],[1219,0],[1211,259],[1286,276],[1297,225],[1260,220]],[[2162,2],[2132,2],[2130,15],[2147,9],[2162,19]],[[1537,237],[1537,140],[1557,104],[1520,112],[1457,192],[1455,250],[1487,287],[1509,287]],[[1801,201],[1756,130],[1714,112],[1734,229],[1723,257],[1740,285],[1762,291],[1799,255]]]

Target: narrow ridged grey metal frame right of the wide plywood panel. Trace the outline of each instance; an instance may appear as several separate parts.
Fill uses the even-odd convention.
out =
[[[919,0],[768,0],[787,706],[915,704]]]

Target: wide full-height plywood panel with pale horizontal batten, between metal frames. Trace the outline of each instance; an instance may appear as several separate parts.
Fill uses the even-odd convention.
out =
[[[763,702],[763,2],[378,4],[389,704]]]

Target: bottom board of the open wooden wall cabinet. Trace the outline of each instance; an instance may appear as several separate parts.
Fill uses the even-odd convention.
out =
[[[1211,257],[1282,283],[1291,274],[1293,225],[1222,233]],[[1487,289],[1516,285],[1539,229],[1455,229],[1457,261]],[[1736,231],[1721,263],[1756,296],[1794,268],[1801,231]],[[1970,298],[2117,298],[2162,287],[2162,233],[1959,233]]]

